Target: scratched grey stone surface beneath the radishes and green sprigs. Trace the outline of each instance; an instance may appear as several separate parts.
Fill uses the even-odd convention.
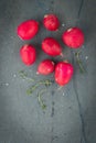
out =
[[[55,13],[61,22],[56,32],[42,25],[46,13]],[[95,0],[1,0],[0,1],[0,143],[96,143],[96,1]],[[17,26],[25,20],[40,22],[39,34],[31,41],[17,36]],[[85,33],[82,48],[72,51],[61,38],[63,31],[79,26]],[[26,89],[33,85],[22,79],[20,70],[38,80],[53,79],[36,75],[39,63],[47,58],[41,51],[45,36],[58,40],[64,58],[74,65],[71,82],[60,88],[56,84],[39,87],[31,96]],[[19,50],[33,44],[38,58],[33,66],[21,63]],[[75,52],[81,51],[85,73],[79,73]],[[52,58],[52,57],[49,57]],[[55,57],[55,62],[62,57]],[[42,110],[38,94],[46,109]]]

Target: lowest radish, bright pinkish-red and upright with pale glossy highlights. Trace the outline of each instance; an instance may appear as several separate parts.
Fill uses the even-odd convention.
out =
[[[66,62],[57,63],[55,67],[55,81],[60,86],[64,86],[70,82],[73,76],[73,65]]]

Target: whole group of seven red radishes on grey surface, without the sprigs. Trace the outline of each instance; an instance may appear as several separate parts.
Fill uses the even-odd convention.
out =
[[[49,31],[57,31],[60,21],[55,14],[46,14],[43,18],[43,25]],[[39,32],[39,22],[28,20],[18,25],[17,34],[21,40],[31,40]],[[62,34],[63,43],[71,48],[79,48],[84,44],[84,33],[79,28],[70,28]],[[49,56],[61,56],[62,47],[54,37],[45,37],[41,43],[42,51]],[[20,48],[22,62],[31,66],[36,59],[36,50],[31,44],[25,44]],[[64,86],[72,79],[74,67],[71,63],[61,61],[55,64],[53,61],[43,59],[38,66],[38,74],[49,75],[54,72],[55,82]]]

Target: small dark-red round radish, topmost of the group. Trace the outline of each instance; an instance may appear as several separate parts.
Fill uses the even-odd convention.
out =
[[[55,14],[46,14],[44,15],[43,24],[49,31],[56,31],[60,26],[60,21]]]

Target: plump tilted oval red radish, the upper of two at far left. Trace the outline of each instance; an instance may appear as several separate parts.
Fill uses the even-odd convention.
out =
[[[22,22],[18,29],[17,33],[22,40],[31,40],[39,31],[39,22],[35,20],[28,20]]]

